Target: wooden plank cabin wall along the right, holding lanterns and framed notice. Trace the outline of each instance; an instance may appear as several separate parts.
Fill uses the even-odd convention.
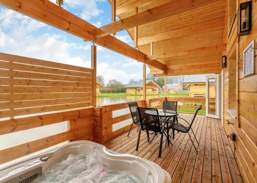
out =
[[[240,1],[246,2],[246,1]],[[255,51],[255,74],[243,77],[243,50],[252,40],[257,41],[257,2],[252,1],[252,30],[249,35],[237,37],[237,17],[227,40],[227,57],[236,52],[236,119],[229,108],[229,67],[224,69],[224,128],[227,134],[236,133],[235,159],[245,182],[257,180],[257,57]],[[237,4],[238,8],[238,4]],[[236,9],[237,9],[236,8]],[[232,60],[231,60],[232,62]],[[229,64],[227,64],[228,66]],[[228,124],[227,120],[232,124]]]

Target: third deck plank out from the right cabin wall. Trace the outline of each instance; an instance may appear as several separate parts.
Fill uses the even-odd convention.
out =
[[[222,182],[221,165],[219,164],[217,137],[215,131],[214,118],[211,118],[211,171],[212,171],[212,181]]]

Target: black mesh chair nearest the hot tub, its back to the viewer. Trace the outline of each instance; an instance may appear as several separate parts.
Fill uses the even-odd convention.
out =
[[[157,116],[154,118],[152,115],[146,114],[144,112],[146,110],[156,111]],[[158,114],[158,109],[138,107],[138,114],[139,114],[139,119],[140,119],[140,129],[139,129],[139,134],[138,134],[136,150],[138,151],[141,130],[146,131],[148,136],[149,136],[149,132],[153,132],[153,133],[155,133],[155,135],[156,134],[161,135],[160,148],[159,148],[159,157],[161,157],[162,140],[163,140],[163,134],[164,134],[164,130],[165,130],[165,127],[166,127],[166,123],[161,123],[160,118],[159,118],[159,114]]]

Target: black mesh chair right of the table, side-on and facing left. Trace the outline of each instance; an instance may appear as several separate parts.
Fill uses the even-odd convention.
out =
[[[190,136],[190,134],[189,134],[189,130],[191,129],[191,127],[192,127],[192,125],[193,125],[193,123],[194,123],[194,119],[195,119],[195,117],[196,117],[196,114],[198,113],[199,110],[201,110],[201,106],[199,106],[199,107],[197,108],[197,110],[195,111],[195,114],[194,114],[194,116],[193,116],[193,118],[192,118],[192,120],[191,120],[191,123],[189,123],[186,119],[183,119],[183,118],[181,118],[181,117],[177,117],[177,118],[182,119],[183,121],[185,121],[186,124],[187,124],[187,126],[184,126],[184,125],[178,123],[177,121],[174,121],[174,122],[170,125],[170,128],[173,129],[173,131],[172,131],[173,133],[174,133],[174,130],[177,130],[177,131],[182,132],[182,133],[188,133],[188,135],[189,135],[189,137],[190,137],[190,139],[191,139],[191,141],[192,141],[192,143],[193,143],[194,149],[196,150],[196,153],[197,153],[197,149],[196,149],[196,147],[195,147],[195,145],[194,145],[194,141],[192,140],[192,138],[191,138],[191,136]],[[192,129],[192,132],[193,132],[194,138],[195,138],[195,140],[196,140],[196,142],[197,142],[197,144],[198,144],[198,146],[199,146],[199,143],[198,143],[198,141],[197,141],[197,139],[196,139],[196,136],[195,136],[195,133],[194,133],[193,129]]]

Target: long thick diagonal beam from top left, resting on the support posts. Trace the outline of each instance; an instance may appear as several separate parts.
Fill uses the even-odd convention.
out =
[[[146,54],[123,43],[114,36],[108,35],[102,38],[96,38],[93,32],[97,27],[89,24],[65,9],[56,6],[50,1],[0,0],[0,5],[30,16],[50,26],[74,34],[82,39],[95,42],[102,47],[136,59],[139,62],[145,63],[148,59]],[[156,67],[158,69],[165,68],[165,66],[158,61],[149,62],[149,64],[152,64],[152,67]]]

